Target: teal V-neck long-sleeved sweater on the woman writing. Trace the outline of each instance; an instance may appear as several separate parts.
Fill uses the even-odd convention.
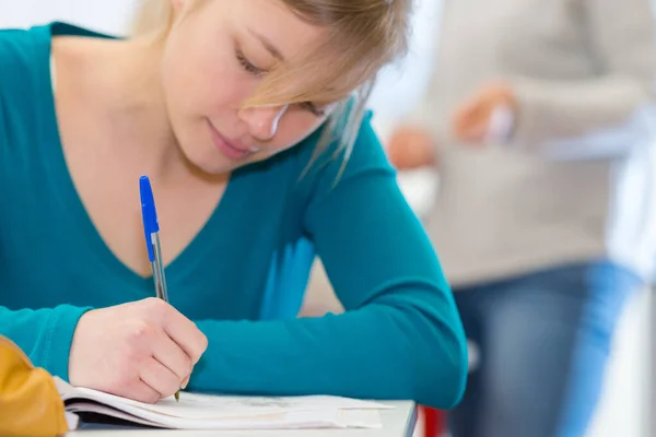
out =
[[[50,40],[85,33],[58,23],[0,32],[0,334],[63,379],[85,311],[154,295],[152,279],[101,238],[62,154]],[[368,118],[337,186],[341,158],[301,178],[317,138],[237,170],[167,265],[172,305],[209,339],[188,390],[450,408],[465,388],[466,340],[424,229]],[[315,257],[342,315],[297,317]]]

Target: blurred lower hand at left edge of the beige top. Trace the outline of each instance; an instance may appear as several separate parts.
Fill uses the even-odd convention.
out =
[[[418,128],[399,127],[390,135],[386,149],[391,165],[400,170],[437,164],[433,138]]]

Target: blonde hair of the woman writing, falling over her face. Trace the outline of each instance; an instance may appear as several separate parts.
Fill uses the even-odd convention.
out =
[[[200,5],[209,0],[196,1]],[[285,62],[263,76],[256,94],[244,105],[339,102],[338,108],[327,120],[311,164],[335,141],[339,141],[339,146],[333,156],[344,152],[345,163],[351,155],[378,71],[403,56],[408,49],[408,21],[412,1],[277,1],[285,4],[301,20],[326,28],[328,37],[309,57]],[[132,31],[134,35],[154,33],[157,38],[165,38],[173,21],[174,11],[169,0],[142,0]],[[330,56],[330,69],[326,68],[327,56]],[[298,78],[305,78],[307,82],[298,86]]]

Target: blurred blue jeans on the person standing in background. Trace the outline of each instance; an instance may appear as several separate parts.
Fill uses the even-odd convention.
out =
[[[584,436],[616,323],[640,286],[600,261],[455,290],[480,361],[449,413],[453,437]]]

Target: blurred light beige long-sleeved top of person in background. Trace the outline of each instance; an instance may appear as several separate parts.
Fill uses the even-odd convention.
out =
[[[651,274],[656,231],[651,0],[446,0],[410,121],[436,139],[427,226],[453,285],[610,258]],[[449,135],[453,110],[508,81],[508,143]]]

